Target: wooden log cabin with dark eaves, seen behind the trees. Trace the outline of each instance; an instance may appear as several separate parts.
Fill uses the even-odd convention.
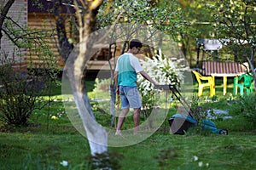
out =
[[[43,4],[43,8],[38,8],[37,6],[32,5],[32,1],[28,1],[28,17],[27,17],[27,26],[32,29],[36,30],[44,30],[49,35],[46,37],[46,40],[48,41],[49,48],[52,50],[52,52],[55,55],[55,58],[58,59],[57,65],[60,68],[63,68],[65,65],[63,63],[63,60],[58,53],[58,39],[56,36],[56,31],[54,29],[55,27],[55,18],[53,14],[50,14],[48,11],[53,7],[53,3],[46,0],[40,0],[40,2]],[[74,9],[70,6],[65,6],[63,8],[63,16],[66,18],[66,30],[67,30],[67,37],[72,39],[77,39],[75,37],[75,30],[73,29],[73,22],[70,18],[70,16],[67,16],[67,13],[74,13]],[[87,63],[87,69],[90,71],[99,71],[102,69],[109,70],[108,65],[108,44],[103,44],[101,47],[97,47],[98,51],[95,55],[93,55],[90,58],[90,61]],[[111,49],[113,52],[113,48]],[[116,56],[120,54],[120,48],[117,48],[116,50]],[[32,55],[33,60],[33,67],[40,68],[40,65],[43,65],[44,60],[40,59],[37,55]]]

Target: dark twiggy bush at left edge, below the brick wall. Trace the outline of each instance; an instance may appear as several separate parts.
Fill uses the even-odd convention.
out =
[[[49,89],[49,72],[29,76],[14,71],[11,65],[0,66],[0,120],[6,125],[26,126],[32,111],[47,104],[43,94]]]

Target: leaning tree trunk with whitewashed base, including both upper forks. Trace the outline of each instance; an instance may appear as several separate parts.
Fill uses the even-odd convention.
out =
[[[84,130],[89,139],[91,155],[103,153],[108,150],[108,134],[100,126],[91,110],[84,82],[84,65],[90,59],[89,50],[93,42],[88,38],[95,26],[96,14],[102,1],[74,0],[79,25],[79,45],[73,48],[73,44],[67,41],[65,20],[61,17],[62,0],[55,1],[55,22],[59,39],[59,52],[65,62],[67,77],[71,83],[73,97],[77,105],[79,116],[82,119]],[[72,53],[77,50],[78,53]],[[69,55],[71,54],[71,55]],[[74,54],[74,55],[73,55]],[[67,59],[72,58],[72,59]]]

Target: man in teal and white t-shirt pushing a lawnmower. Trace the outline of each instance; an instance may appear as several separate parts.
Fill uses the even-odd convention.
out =
[[[121,127],[125,121],[125,116],[133,108],[133,122],[134,122],[134,133],[138,133],[138,127],[140,124],[140,111],[142,102],[137,90],[137,73],[140,73],[149,82],[157,85],[148,74],[143,71],[139,59],[134,54],[138,54],[140,49],[143,47],[142,42],[137,39],[133,39],[130,42],[129,50],[119,56],[117,61],[117,67],[114,71],[114,82],[116,87],[116,93],[121,98],[121,114],[119,115],[118,125],[116,129],[116,135],[122,135]]]

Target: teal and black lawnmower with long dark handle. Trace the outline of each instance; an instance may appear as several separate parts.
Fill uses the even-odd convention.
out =
[[[218,129],[214,122],[209,119],[204,119],[201,122],[195,119],[195,112],[189,107],[189,104],[183,99],[183,96],[179,93],[174,85],[156,85],[155,89],[168,90],[178,99],[178,101],[183,105],[185,112],[182,114],[175,114],[169,120],[169,124],[173,134],[185,134],[188,132],[189,128],[200,126],[204,129],[209,129],[212,133],[218,134],[228,134],[226,129]]]

